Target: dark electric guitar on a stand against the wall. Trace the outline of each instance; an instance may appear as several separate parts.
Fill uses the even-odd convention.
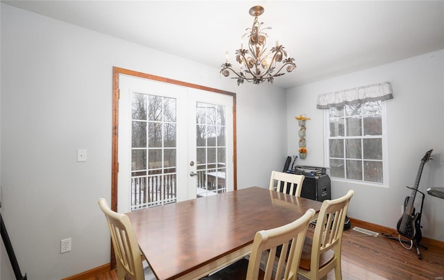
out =
[[[433,150],[433,149],[432,149]],[[418,174],[416,175],[415,186],[411,189],[410,196],[407,196],[404,200],[404,213],[400,220],[398,220],[398,233],[405,238],[409,238],[410,240],[416,240],[419,242],[422,238],[421,229],[420,229],[420,215],[421,213],[415,213],[415,208],[413,207],[413,203],[415,202],[416,192],[418,191],[419,180],[422,175],[422,169],[424,168],[424,164],[429,161],[430,155],[432,155],[432,150],[429,150],[425,153],[424,157],[421,159],[421,163],[419,165]]]

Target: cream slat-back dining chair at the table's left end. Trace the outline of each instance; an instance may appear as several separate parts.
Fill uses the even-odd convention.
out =
[[[99,200],[99,207],[105,214],[110,229],[117,277],[119,280],[126,279],[126,276],[130,279],[145,279],[139,244],[130,219],[123,213],[112,211],[104,198]]]

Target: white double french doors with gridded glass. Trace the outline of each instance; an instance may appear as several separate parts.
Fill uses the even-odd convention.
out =
[[[119,75],[118,209],[234,186],[233,96]]]

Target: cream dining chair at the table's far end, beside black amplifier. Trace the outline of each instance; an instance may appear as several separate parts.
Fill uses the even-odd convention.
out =
[[[281,193],[289,193],[291,195],[300,196],[302,191],[302,182],[304,175],[296,175],[291,173],[283,173],[271,171],[270,189]]]

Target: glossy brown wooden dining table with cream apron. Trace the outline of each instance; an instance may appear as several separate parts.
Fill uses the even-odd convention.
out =
[[[250,254],[257,231],[321,204],[254,186],[126,214],[157,279],[199,279]]]

